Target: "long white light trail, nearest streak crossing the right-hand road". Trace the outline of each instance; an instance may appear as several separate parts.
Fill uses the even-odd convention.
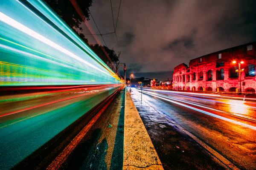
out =
[[[201,110],[201,109],[198,109],[198,108],[195,108],[195,107],[192,107],[192,106],[189,106],[189,105],[185,105],[185,104],[182,104],[182,103],[180,103],[180,102],[175,102],[175,101],[173,101],[173,100],[166,99],[165,97],[161,97],[161,96],[158,96],[158,95],[155,95],[155,94],[152,94],[152,93],[148,93],[148,92],[145,92],[145,91],[143,91],[143,93],[144,93],[144,94],[151,95],[151,96],[155,96],[155,97],[157,97],[157,98],[159,98],[159,99],[163,99],[163,100],[166,100],[166,101],[168,101],[168,102],[175,103],[175,104],[177,104],[177,105],[181,105],[181,106],[186,107],[186,108],[190,108],[190,109],[192,109],[192,110],[194,110],[194,111],[198,111],[198,112],[200,112],[200,113],[204,113],[204,114],[207,114],[207,115],[209,115],[209,116],[213,116],[213,117],[218,118],[218,119],[221,119],[221,120],[225,120],[225,121],[234,123],[234,124],[236,124],[236,125],[240,125],[240,126],[243,126],[243,127],[247,127],[247,128],[256,130],[256,127],[253,126],[253,125],[247,125],[247,124],[245,124],[245,123],[243,123],[243,122],[238,122],[238,121],[236,121],[236,120],[232,120],[232,119],[229,119],[229,118],[226,118],[226,117],[223,117],[223,116],[219,116],[219,115],[216,115],[216,114],[207,112],[207,111],[203,111],[203,110]]]

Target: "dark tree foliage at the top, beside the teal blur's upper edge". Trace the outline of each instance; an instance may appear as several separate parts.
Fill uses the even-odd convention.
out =
[[[84,34],[79,33],[78,30],[83,31],[81,27],[82,19],[76,12],[76,9],[70,3],[70,0],[45,0],[45,2],[55,11],[62,20],[64,20],[70,28],[86,43],[88,44],[87,38]],[[92,0],[76,0],[82,9],[86,20],[89,19],[89,7],[92,6]]]

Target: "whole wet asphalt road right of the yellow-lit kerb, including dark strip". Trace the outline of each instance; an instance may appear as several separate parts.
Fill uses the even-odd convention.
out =
[[[256,169],[256,102],[166,91],[144,92],[148,94],[143,93],[142,101],[140,90],[133,88],[131,96],[165,169],[225,169],[171,121],[236,167]]]

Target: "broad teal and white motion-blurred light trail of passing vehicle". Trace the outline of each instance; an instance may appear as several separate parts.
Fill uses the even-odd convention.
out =
[[[0,4],[0,86],[119,84],[119,77],[40,0]]]

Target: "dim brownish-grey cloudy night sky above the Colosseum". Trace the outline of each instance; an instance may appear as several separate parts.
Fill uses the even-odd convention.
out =
[[[119,2],[112,0],[115,21]],[[165,80],[182,62],[256,41],[255,7],[255,0],[122,0],[120,46],[114,34],[104,39],[136,77]],[[90,11],[102,34],[113,31],[110,0],[94,0]]]

